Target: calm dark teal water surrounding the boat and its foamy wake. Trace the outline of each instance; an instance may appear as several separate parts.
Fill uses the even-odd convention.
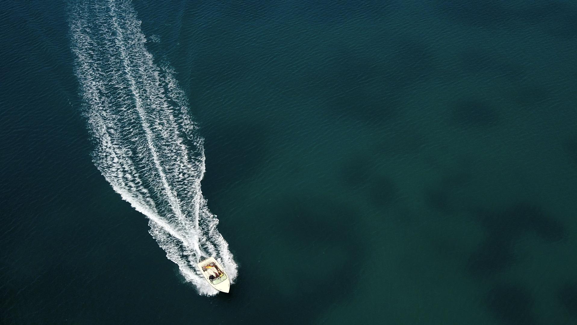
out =
[[[236,283],[198,295],[92,163],[66,3],[5,1],[2,323],[577,322],[574,2],[133,7]]]

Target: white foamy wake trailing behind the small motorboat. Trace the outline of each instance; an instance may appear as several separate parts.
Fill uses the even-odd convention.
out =
[[[115,191],[148,217],[150,233],[201,294],[216,294],[196,263],[237,264],[200,190],[203,138],[168,66],[153,62],[129,0],[70,3],[70,35],[93,161]]]

